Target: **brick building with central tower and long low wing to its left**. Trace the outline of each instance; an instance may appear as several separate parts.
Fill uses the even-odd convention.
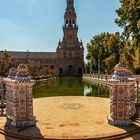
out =
[[[56,52],[10,52],[13,60],[25,63],[28,60],[40,61],[42,65],[54,67],[63,76],[81,76],[84,71],[84,48],[77,37],[77,16],[74,0],[67,0],[63,25],[64,37],[59,41]],[[0,52],[2,54],[3,51]]]

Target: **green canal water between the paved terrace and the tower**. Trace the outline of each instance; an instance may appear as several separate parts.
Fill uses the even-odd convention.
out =
[[[58,78],[48,80],[44,84],[36,84],[33,89],[34,98],[53,97],[53,96],[95,96],[109,97],[109,88],[107,86],[89,84],[82,78]]]

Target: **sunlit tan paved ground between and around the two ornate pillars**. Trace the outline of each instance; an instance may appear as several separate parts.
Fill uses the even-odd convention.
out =
[[[49,97],[34,100],[37,126],[10,132],[41,138],[91,138],[127,132],[137,126],[118,128],[108,125],[109,99],[97,97]],[[4,129],[6,119],[0,118]],[[136,124],[138,125],[138,124]],[[9,131],[9,130],[8,130]],[[140,139],[134,136],[131,139]],[[0,140],[14,140],[0,135]]]

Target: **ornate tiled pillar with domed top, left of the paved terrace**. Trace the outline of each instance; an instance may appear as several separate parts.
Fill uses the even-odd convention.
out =
[[[33,117],[32,86],[34,80],[30,80],[28,68],[21,64],[17,70],[9,71],[6,83],[6,113],[8,120],[14,127],[35,125]]]

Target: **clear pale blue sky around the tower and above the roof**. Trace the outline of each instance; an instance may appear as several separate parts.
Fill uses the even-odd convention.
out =
[[[114,23],[119,0],[75,0],[79,39],[86,44]],[[55,51],[63,37],[66,0],[0,0],[0,50]]]

